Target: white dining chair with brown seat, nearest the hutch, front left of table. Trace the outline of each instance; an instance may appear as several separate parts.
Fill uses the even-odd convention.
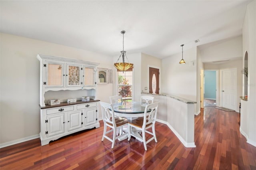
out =
[[[102,111],[102,119],[104,122],[104,131],[101,141],[103,141],[104,138],[110,140],[110,142],[112,142],[111,148],[113,149],[116,139],[121,138],[122,136],[128,134],[128,132],[122,131],[122,133],[119,133],[118,135],[118,129],[122,129],[123,126],[127,125],[128,120],[122,117],[115,117],[114,108],[112,104],[100,102],[100,106]],[[107,127],[110,127],[110,130],[107,131]],[[112,139],[107,136],[107,134],[110,132],[113,132]]]

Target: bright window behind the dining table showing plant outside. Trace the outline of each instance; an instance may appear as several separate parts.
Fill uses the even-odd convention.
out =
[[[122,95],[123,100],[132,101],[132,68],[126,71],[117,70],[118,95]]]

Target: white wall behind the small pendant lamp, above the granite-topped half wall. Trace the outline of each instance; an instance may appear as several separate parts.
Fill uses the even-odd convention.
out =
[[[197,48],[184,50],[184,47],[183,59],[186,64],[179,64],[182,53],[162,59],[162,74],[160,74],[162,85],[160,89],[162,89],[162,94],[197,101]],[[194,111],[197,112],[196,105]]]

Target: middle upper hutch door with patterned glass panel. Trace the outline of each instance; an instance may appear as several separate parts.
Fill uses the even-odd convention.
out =
[[[66,87],[81,86],[81,69],[82,65],[67,64],[66,66]]]

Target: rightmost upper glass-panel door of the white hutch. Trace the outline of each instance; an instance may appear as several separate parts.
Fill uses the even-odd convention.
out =
[[[83,86],[95,87],[96,86],[96,68],[84,65],[83,67]]]

